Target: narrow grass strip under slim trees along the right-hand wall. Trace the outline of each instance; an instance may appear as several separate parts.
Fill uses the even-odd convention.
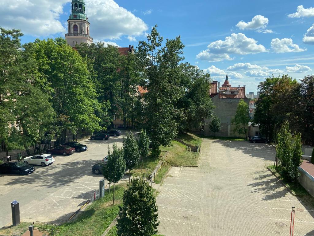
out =
[[[284,181],[284,179],[280,176],[280,173],[277,172],[276,167],[274,167],[273,165],[268,166],[268,168],[274,172],[274,174],[285,184],[287,188],[290,189],[293,194],[298,197],[298,199],[308,202],[311,207],[314,208],[314,198],[310,194],[308,194],[300,184],[296,186],[290,182]]]

